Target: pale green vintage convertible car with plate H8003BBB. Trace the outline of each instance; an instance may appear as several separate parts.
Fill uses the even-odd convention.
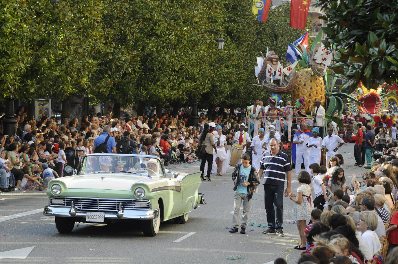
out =
[[[43,214],[55,216],[60,233],[71,232],[75,222],[139,219],[144,235],[155,236],[160,222],[185,223],[193,208],[206,203],[200,185],[200,172],[170,173],[156,156],[89,154],[74,175],[49,182]]]

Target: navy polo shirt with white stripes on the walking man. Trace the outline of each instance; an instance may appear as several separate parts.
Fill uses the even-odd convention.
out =
[[[263,184],[285,186],[286,172],[291,171],[289,157],[279,150],[273,156],[265,152],[260,161],[260,169],[263,170]]]

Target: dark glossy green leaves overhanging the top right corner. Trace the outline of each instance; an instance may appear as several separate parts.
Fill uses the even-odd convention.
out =
[[[375,87],[398,78],[398,9],[394,0],[318,0],[326,46],[337,44],[333,70],[351,93],[362,81]],[[339,21],[339,23],[338,23]]]

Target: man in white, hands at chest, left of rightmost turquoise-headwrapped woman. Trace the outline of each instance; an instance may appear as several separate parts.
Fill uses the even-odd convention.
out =
[[[305,132],[307,130],[307,125],[305,123],[300,124],[300,130],[298,130],[293,137],[293,144],[296,144],[296,175],[300,173],[301,163],[304,159],[304,169],[309,172],[308,169],[308,136]],[[309,131],[309,130],[308,130]]]

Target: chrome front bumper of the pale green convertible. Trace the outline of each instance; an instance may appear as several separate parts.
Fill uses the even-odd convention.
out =
[[[97,212],[101,213],[101,212]],[[105,219],[141,219],[149,220],[155,219],[159,216],[159,209],[155,210],[123,210],[123,214],[118,213],[105,213]],[[82,217],[86,218],[86,212],[72,211],[71,208],[64,206],[46,206],[43,211],[44,215],[49,216],[64,216],[64,217]]]

